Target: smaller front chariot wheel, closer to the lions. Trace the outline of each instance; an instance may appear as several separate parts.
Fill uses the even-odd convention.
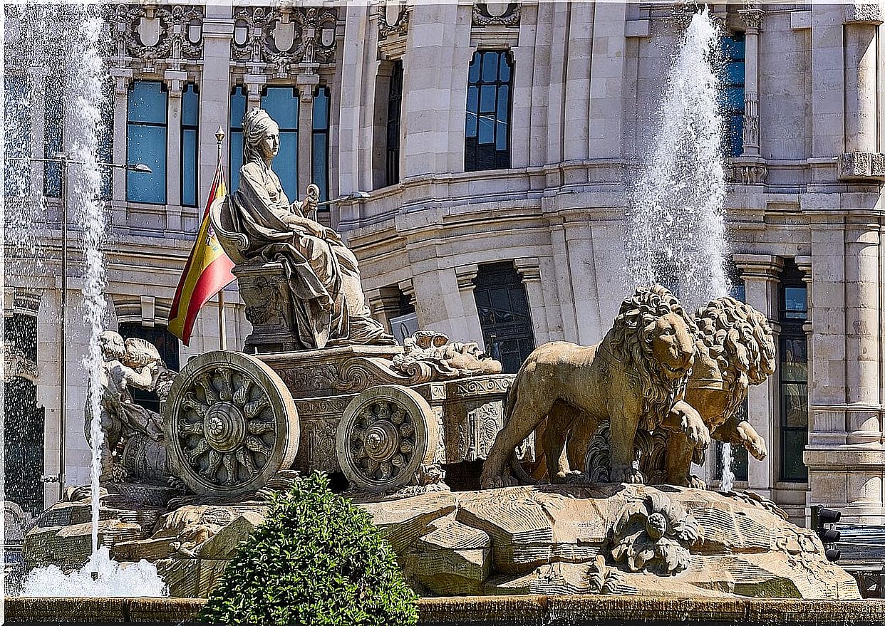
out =
[[[412,389],[366,389],[350,401],[335,444],[350,485],[391,492],[409,485],[419,467],[434,462],[440,431],[433,408]]]

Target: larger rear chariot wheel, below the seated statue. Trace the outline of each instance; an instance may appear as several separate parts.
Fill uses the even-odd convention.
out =
[[[163,420],[173,474],[192,491],[241,495],[289,469],[298,412],[282,379],[256,357],[214,350],[175,378]]]

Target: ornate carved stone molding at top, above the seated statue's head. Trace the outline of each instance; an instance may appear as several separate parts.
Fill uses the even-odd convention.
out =
[[[285,73],[292,65],[335,63],[338,13],[328,7],[242,7],[234,14],[233,61],[253,71],[263,64]]]

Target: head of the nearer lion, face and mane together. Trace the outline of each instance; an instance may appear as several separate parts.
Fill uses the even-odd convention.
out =
[[[643,390],[641,427],[653,431],[681,398],[695,359],[694,320],[660,285],[638,287],[621,302],[612,351]]]

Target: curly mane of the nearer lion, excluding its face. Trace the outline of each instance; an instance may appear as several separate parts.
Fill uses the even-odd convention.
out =
[[[654,431],[664,420],[673,404],[685,394],[690,371],[682,378],[670,381],[655,367],[652,354],[652,337],[646,328],[658,317],[674,313],[682,318],[692,336],[697,325],[676,296],[664,286],[641,286],[635,294],[621,302],[618,317],[612,324],[612,352],[624,364],[624,368],[639,378],[643,389],[643,416],[640,427]]]

